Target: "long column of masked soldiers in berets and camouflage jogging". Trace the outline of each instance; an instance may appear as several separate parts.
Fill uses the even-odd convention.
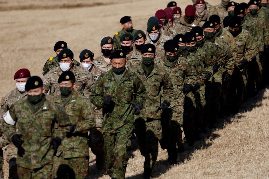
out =
[[[17,165],[13,173],[84,178],[90,147],[97,169],[125,178],[135,134],[150,178],[159,142],[176,164],[183,132],[192,146],[218,118],[236,114],[268,83],[268,1],[192,3],[182,15],[169,2],[146,30],[122,17],[122,30],[101,40],[96,59],[84,49],[80,64],[58,41],[42,79],[19,69],[17,87],[1,100],[1,149]]]

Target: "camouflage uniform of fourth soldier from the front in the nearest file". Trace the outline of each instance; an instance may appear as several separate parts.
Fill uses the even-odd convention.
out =
[[[162,110],[159,107],[164,100],[171,102],[173,84],[160,65],[155,64],[148,77],[144,73],[142,63],[136,66],[134,71],[147,89],[144,108],[139,116],[135,116],[135,135],[140,152],[145,156],[144,168],[153,169],[158,156],[158,143],[162,137],[160,121]]]

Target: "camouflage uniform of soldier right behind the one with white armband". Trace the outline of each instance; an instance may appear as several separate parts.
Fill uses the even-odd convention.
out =
[[[70,95],[66,104],[61,95],[53,98],[53,102],[64,108],[70,123],[76,124],[73,134],[62,140],[62,146],[58,148],[58,153],[62,154],[54,158],[53,169],[57,171],[61,164],[67,164],[75,172],[76,178],[84,178],[88,174],[88,167],[82,164],[89,162],[88,131],[95,127],[94,111],[88,98],[76,93]]]

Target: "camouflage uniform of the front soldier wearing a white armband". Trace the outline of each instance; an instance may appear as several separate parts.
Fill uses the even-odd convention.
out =
[[[24,141],[25,154],[17,156],[19,178],[51,178],[53,148],[50,143],[55,137],[63,139],[70,129],[70,121],[61,106],[46,100],[45,95],[39,104],[41,107],[33,113],[27,99],[19,100],[9,110],[15,125],[3,122],[10,141],[15,134],[21,134]],[[56,128],[57,135],[54,134]]]

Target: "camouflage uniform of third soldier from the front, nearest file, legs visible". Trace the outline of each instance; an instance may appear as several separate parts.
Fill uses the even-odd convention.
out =
[[[98,108],[103,106],[105,96],[112,96],[113,106],[103,108],[104,121],[101,127],[107,173],[110,177],[125,178],[129,158],[126,145],[134,127],[133,101],[143,106],[145,91],[142,81],[128,70],[120,82],[114,77],[113,70],[103,73],[92,89],[92,103]]]

